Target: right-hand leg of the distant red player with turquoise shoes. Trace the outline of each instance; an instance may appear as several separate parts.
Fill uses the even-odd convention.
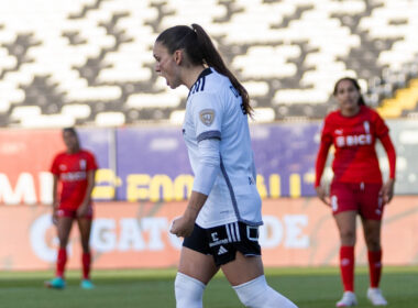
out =
[[[81,264],[82,264],[82,280],[81,287],[85,289],[94,288],[94,284],[90,280],[90,266],[91,266],[91,254],[90,254],[90,232],[91,232],[91,219],[78,218],[78,229],[80,231],[81,238]]]

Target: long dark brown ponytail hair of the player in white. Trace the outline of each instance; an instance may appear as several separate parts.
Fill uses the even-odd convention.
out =
[[[187,25],[168,28],[158,35],[156,42],[163,44],[170,54],[184,50],[193,65],[211,66],[219,74],[227,76],[241,95],[245,113],[252,114],[253,109],[250,106],[248,91],[228,69],[209,35],[200,25],[194,23],[191,28]]]

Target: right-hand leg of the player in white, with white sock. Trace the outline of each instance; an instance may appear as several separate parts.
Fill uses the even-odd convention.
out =
[[[221,270],[243,305],[254,308],[297,308],[267,285],[261,256],[244,256],[237,252],[235,260],[222,265]]]

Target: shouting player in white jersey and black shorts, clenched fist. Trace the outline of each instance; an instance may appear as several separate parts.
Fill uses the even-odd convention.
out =
[[[184,237],[175,279],[177,308],[202,307],[206,285],[221,268],[248,307],[296,307],[264,277],[244,87],[224,65],[204,29],[177,25],[154,44],[155,70],[170,88],[189,89],[183,135],[195,182],[170,232]]]

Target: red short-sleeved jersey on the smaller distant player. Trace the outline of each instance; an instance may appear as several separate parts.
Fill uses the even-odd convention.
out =
[[[80,150],[77,153],[59,153],[55,156],[51,166],[51,172],[58,177],[62,183],[59,208],[77,209],[87,191],[87,172],[96,170],[95,156]]]

